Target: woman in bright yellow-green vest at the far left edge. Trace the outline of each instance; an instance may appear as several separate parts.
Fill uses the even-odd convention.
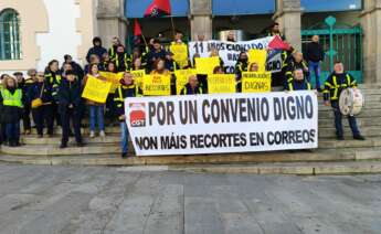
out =
[[[22,91],[14,78],[8,76],[3,81],[0,93],[1,124],[6,127],[6,137],[10,147],[20,146],[20,119],[23,111]]]

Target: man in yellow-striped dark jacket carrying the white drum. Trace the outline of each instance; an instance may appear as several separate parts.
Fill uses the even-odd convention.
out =
[[[337,139],[343,140],[343,130],[341,123],[342,115],[339,107],[339,97],[343,89],[350,87],[357,88],[357,82],[353,76],[345,72],[343,64],[340,61],[335,63],[334,70],[334,73],[328,76],[325,83],[325,89],[322,91],[322,94],[325,105],[330,105],[334,108]],[[366,138],[361,136],[354,116],[348,116],[348,121],[353,134],[353,139],[364,140]]]

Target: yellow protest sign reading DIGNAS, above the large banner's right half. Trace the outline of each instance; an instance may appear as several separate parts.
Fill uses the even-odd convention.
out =
[[[272,91],[272,73],[242,73],[242,93],[267,93]]]

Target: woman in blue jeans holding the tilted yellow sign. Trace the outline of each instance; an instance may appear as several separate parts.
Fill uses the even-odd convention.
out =
[[[106,81],[104,77],[100,76],[99,74],[99,70],[98,70],[98,65],[93,63],[89,65],[89,72],[88,74],[85,76],[85,78],[83,79],[83,86],[86,86],[87,79],[88,79],[88,75],[102,79],[102,81]],[[98,124],[98,128],[99,128],[99,136],[100,137],[106,137],[105,134],[105,120],[104,120],[104,114],[105,114],[105,105],[102,103],[96,103],[93,100],[87,99],[86,100],[86,105],[89,107],[89,137],[94,138],[95,137],[95,124]]]

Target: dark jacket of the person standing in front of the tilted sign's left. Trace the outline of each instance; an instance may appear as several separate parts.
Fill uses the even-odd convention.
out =
[[[66,78],[62,79],[60,89],[57,93],[57,102],[60,111],[66,110],[68,105],[73,105],[74,108],[82,107],[82,86],[81,82],[75,79],[68,82]]]

